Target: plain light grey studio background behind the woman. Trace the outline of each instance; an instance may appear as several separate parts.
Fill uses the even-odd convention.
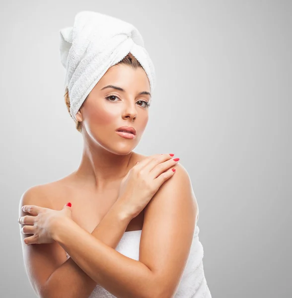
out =
[[[288,0],[1,3],[0,297],[35,297],[17,223],[22,193],[79,165],[59,29],[80,10],[120,17],[144,38],[157,84],[134,151],[173,152],[187,169],[213,298],[290,297]]]

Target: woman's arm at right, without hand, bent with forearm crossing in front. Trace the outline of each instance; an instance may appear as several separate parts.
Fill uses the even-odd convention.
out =
[[[73,261],[117,297],[170,298],[177,288],[198,208],[186,170],[180,164],[175,168],[176,174],[145,208],[139,261],[107,246],[69,218],[52,232]]]

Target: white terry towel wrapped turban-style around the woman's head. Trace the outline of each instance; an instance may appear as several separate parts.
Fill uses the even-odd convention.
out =
[[[155,85],[154,65],[136,27],[119,18],[94,11],[80,11],[72,27],[60,30],[61,62],[73,120],[87,95],[106,73],[129,53],[145,70],[150,93]]]

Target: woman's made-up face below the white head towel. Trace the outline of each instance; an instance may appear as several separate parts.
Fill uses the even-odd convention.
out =
[[[122,88],[118,90],[114,87]],[[150,102],[148,77],[142,68],[117,64],[97,82],[83,102],[76,119],[82,121],[82,133],[104,149],[117,154],[130,153],[139,143],[148,122]],[[134,139],[116,133],[121,126],[136,129]]]

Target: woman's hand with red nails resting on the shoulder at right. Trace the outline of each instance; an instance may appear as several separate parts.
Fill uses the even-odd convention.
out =
[[[169,168],[177,161],[169,154],[155,154],[130,169],[121,182],[117,200],[129,218],[138,216],[164,181],[172,177],[175,171]]]

